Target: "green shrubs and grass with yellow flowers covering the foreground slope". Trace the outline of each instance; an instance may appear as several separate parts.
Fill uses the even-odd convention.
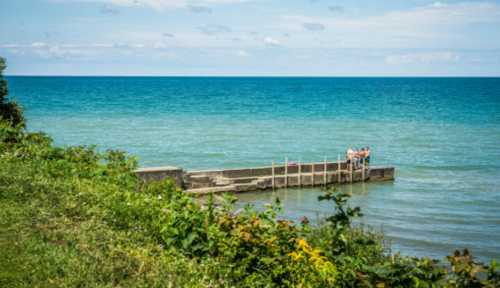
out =
[[[142,183],[135,159],[56,147],[0,119],[0,287],[499,287],[496,262],[468,251],[449,265],[387,253],[330,191],[319,226],[205,204],[166,180]],[[8,121],[5,121],[8,120]]]

